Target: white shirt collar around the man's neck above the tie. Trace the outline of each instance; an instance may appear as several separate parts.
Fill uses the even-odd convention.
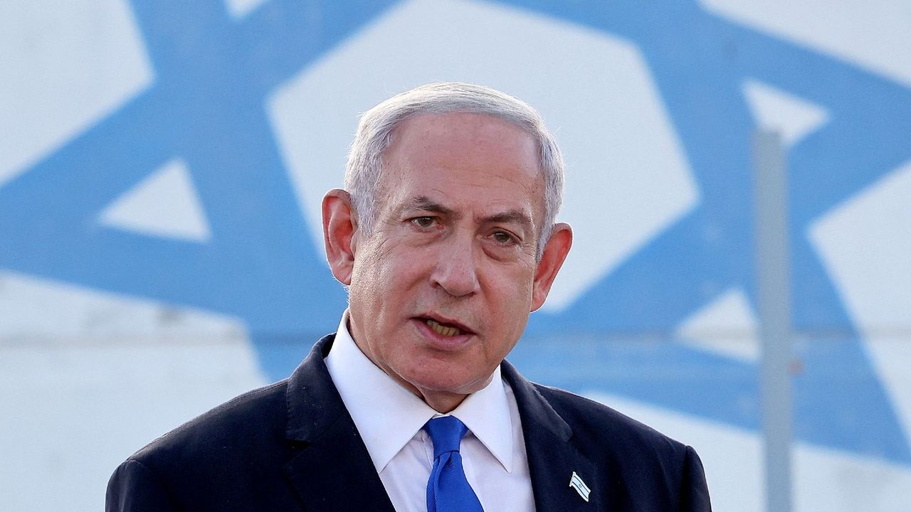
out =
[[[441,415],[396,383],[364,355],[348,331],[348,312],[342,316],[326,366],[333,383],[363,438],[377,473],[421,430]],[[513,438],[509,404],[500,367],[490,384],[469,394],[449,413],[462,421],[487,450],[512,472]],[[389,414],[395,411],[394,414]]]

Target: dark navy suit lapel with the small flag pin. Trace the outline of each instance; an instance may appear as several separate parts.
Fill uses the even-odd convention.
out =
[[[602,476],[591,459],[578,451],[572,428],[511,364],[504,361],[502,370],[516,394],[537,510],[604,510],[607,497],[596,488]],[[577,485],[583,493],[570,486],[573,473],[590,488],[588,501],[581,496],[584,486]]]

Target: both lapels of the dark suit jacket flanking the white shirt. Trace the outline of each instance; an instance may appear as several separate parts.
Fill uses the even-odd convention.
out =
[[[366,446],[345,409],[323,358],[333,335],[317,342],[288,381],[285,435],[295,455],[285,475],[307,510],[377,510],[394,512]],[[532,492],[538,511],[599,510],[597,490],[586,502],[569,486],[575,472],[594,488],[597,466],[579,452],[572,428],[534,384],[507,362],[502,373],[516,395],[528,455]]]

